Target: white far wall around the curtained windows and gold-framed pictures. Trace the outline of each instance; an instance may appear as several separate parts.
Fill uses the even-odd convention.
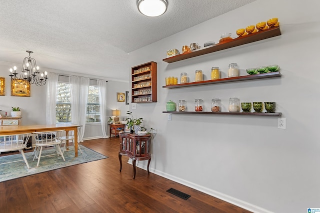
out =
[[[22,59],[21,59],[22,63]],[[22,125],[37,125],[46,123],[46,109],[45,109],[45,98],[46,98],[46,85],[44,86],[35,86],[31,84],[30,88],[30,97],[17,97],[11,96],[10,89],[10,77],[9,68],[13,65],[7,62],[0,62],[0,77],[5,77],[5,96],[0,96],[0,113],[2,116],[5,115],[5,112],[10,116],[11,107],[20,107],[21,108],[21,124]],[[19,65],[17,65],[19,66]],[[67,72],[60,70],[49,70],[49,72],[55,72],[62,75],[66,75]],[[128,71],[129,72],[129,71]],[[76,75],[76,73],[67,73]],[[83,75],[81,75],[83,76]],[[97,76],[85,76],[92,77],[94,79],[98,78]],[[102,78],[103,79],[103,78]],[[120,119],[123,120],[126,116],[126,111],[128,110],[129,105],[125,105],[125,102],[117,102],[116,93],[129,91],[129,85],[127,82],[119,82],[114,80],[108,80],[107,82],[107,119],[112,115],[112,109],[120,110]],[[109,128],[107,126],[107,134]],[[88,124],[85,127],[84,140],[101,138],[102,130],[100,124]]]

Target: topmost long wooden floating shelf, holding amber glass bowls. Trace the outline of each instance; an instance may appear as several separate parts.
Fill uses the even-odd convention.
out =
[[[164,58],[164,59],[162,59],[162,61],[165,61],[167,63],[173,63],[176,61],[180,61],[180,60],[184,60],[184,59],[188,59],[188,58],[193,58],[193,57],[200,56],[200,55],[205,55],[205,54],[208,54],[211,52],[216,52],[216,51],[220,51],[223,49],[228,49],[228,48],[232,48],[235,46],[240,46],[243,44],[263,40],[266,38],[275,37],[278,35],[281,35],[281,32],[280,32],[280,28],[278,26],[276,26],[276,27],[272,27],[272,28],[269,28],[266,30],[262,30],[260,32],[253,33],[253,34],[240,36],[240,37],[234,38],[228,42],[217,43],[212,46],[207,46],[207,47],[203,47],[200,49],[192,50],[190,52],[185,52],[185,53],[178,54],[178,55],[175,55],[172,57]]]

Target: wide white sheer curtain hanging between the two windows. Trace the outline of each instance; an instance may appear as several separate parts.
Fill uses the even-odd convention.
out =
[[[83,141],[89,81],[89,78],[69,76],[72,114],[71,120],[73,124],[82,126],[82,128],[79,128],[78,131],[78,142]]]

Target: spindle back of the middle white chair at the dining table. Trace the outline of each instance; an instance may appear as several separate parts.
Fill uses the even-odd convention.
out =
[[[64,130],[59,131],[45,131],[45,132],[33,132],[33,139],[36,144],[56,144],[61,143],[60,137]]]

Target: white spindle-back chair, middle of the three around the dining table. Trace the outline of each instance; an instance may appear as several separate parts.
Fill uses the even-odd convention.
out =
[[[34,161],[34,159],[38,159],[36,167],[39,166],[43,147],[53,146],[55,149],[55,152],[56,152],[54,155],[56,155],[56,154],[61,155],[63,161],[65,161],[65,159],[63,157],[63,153],[60,149],[61,140],[59,139],[61,137],[61,135],[63,134],[63,132],[64,132],[64,130],[47,131],[47,132],[33,132],[32,133],[33,139],[35,141],[35,148],[33,151],[34,157],[33,157],[32,161]],[[46,155],[46,156],[49,156],[49,155]],[[42,156],[42,157],[45,157],[45,156]]]

